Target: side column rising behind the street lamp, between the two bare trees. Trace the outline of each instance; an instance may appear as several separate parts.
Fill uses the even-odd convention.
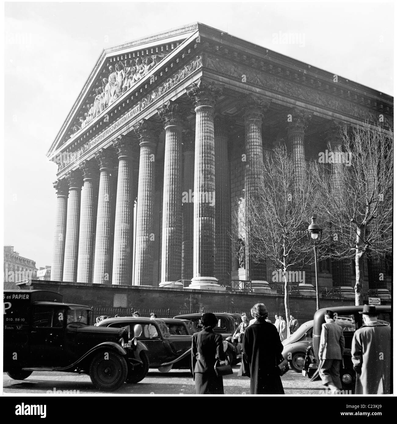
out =
[[[310,120],[310,115],[303,110],[293,109],[288,119],[288,143],[292,148],[294,178],[304,178],[305,167],[305,149],[304,149],[304,132]],[[302,228],[306,231],[306,228]],[[304,265],[302,267],[291,267],[291,271],[304,272],[304,282],[299,283],[299,293],[305,296],[315,296],[315,288],[311,284],[311,266]]]

